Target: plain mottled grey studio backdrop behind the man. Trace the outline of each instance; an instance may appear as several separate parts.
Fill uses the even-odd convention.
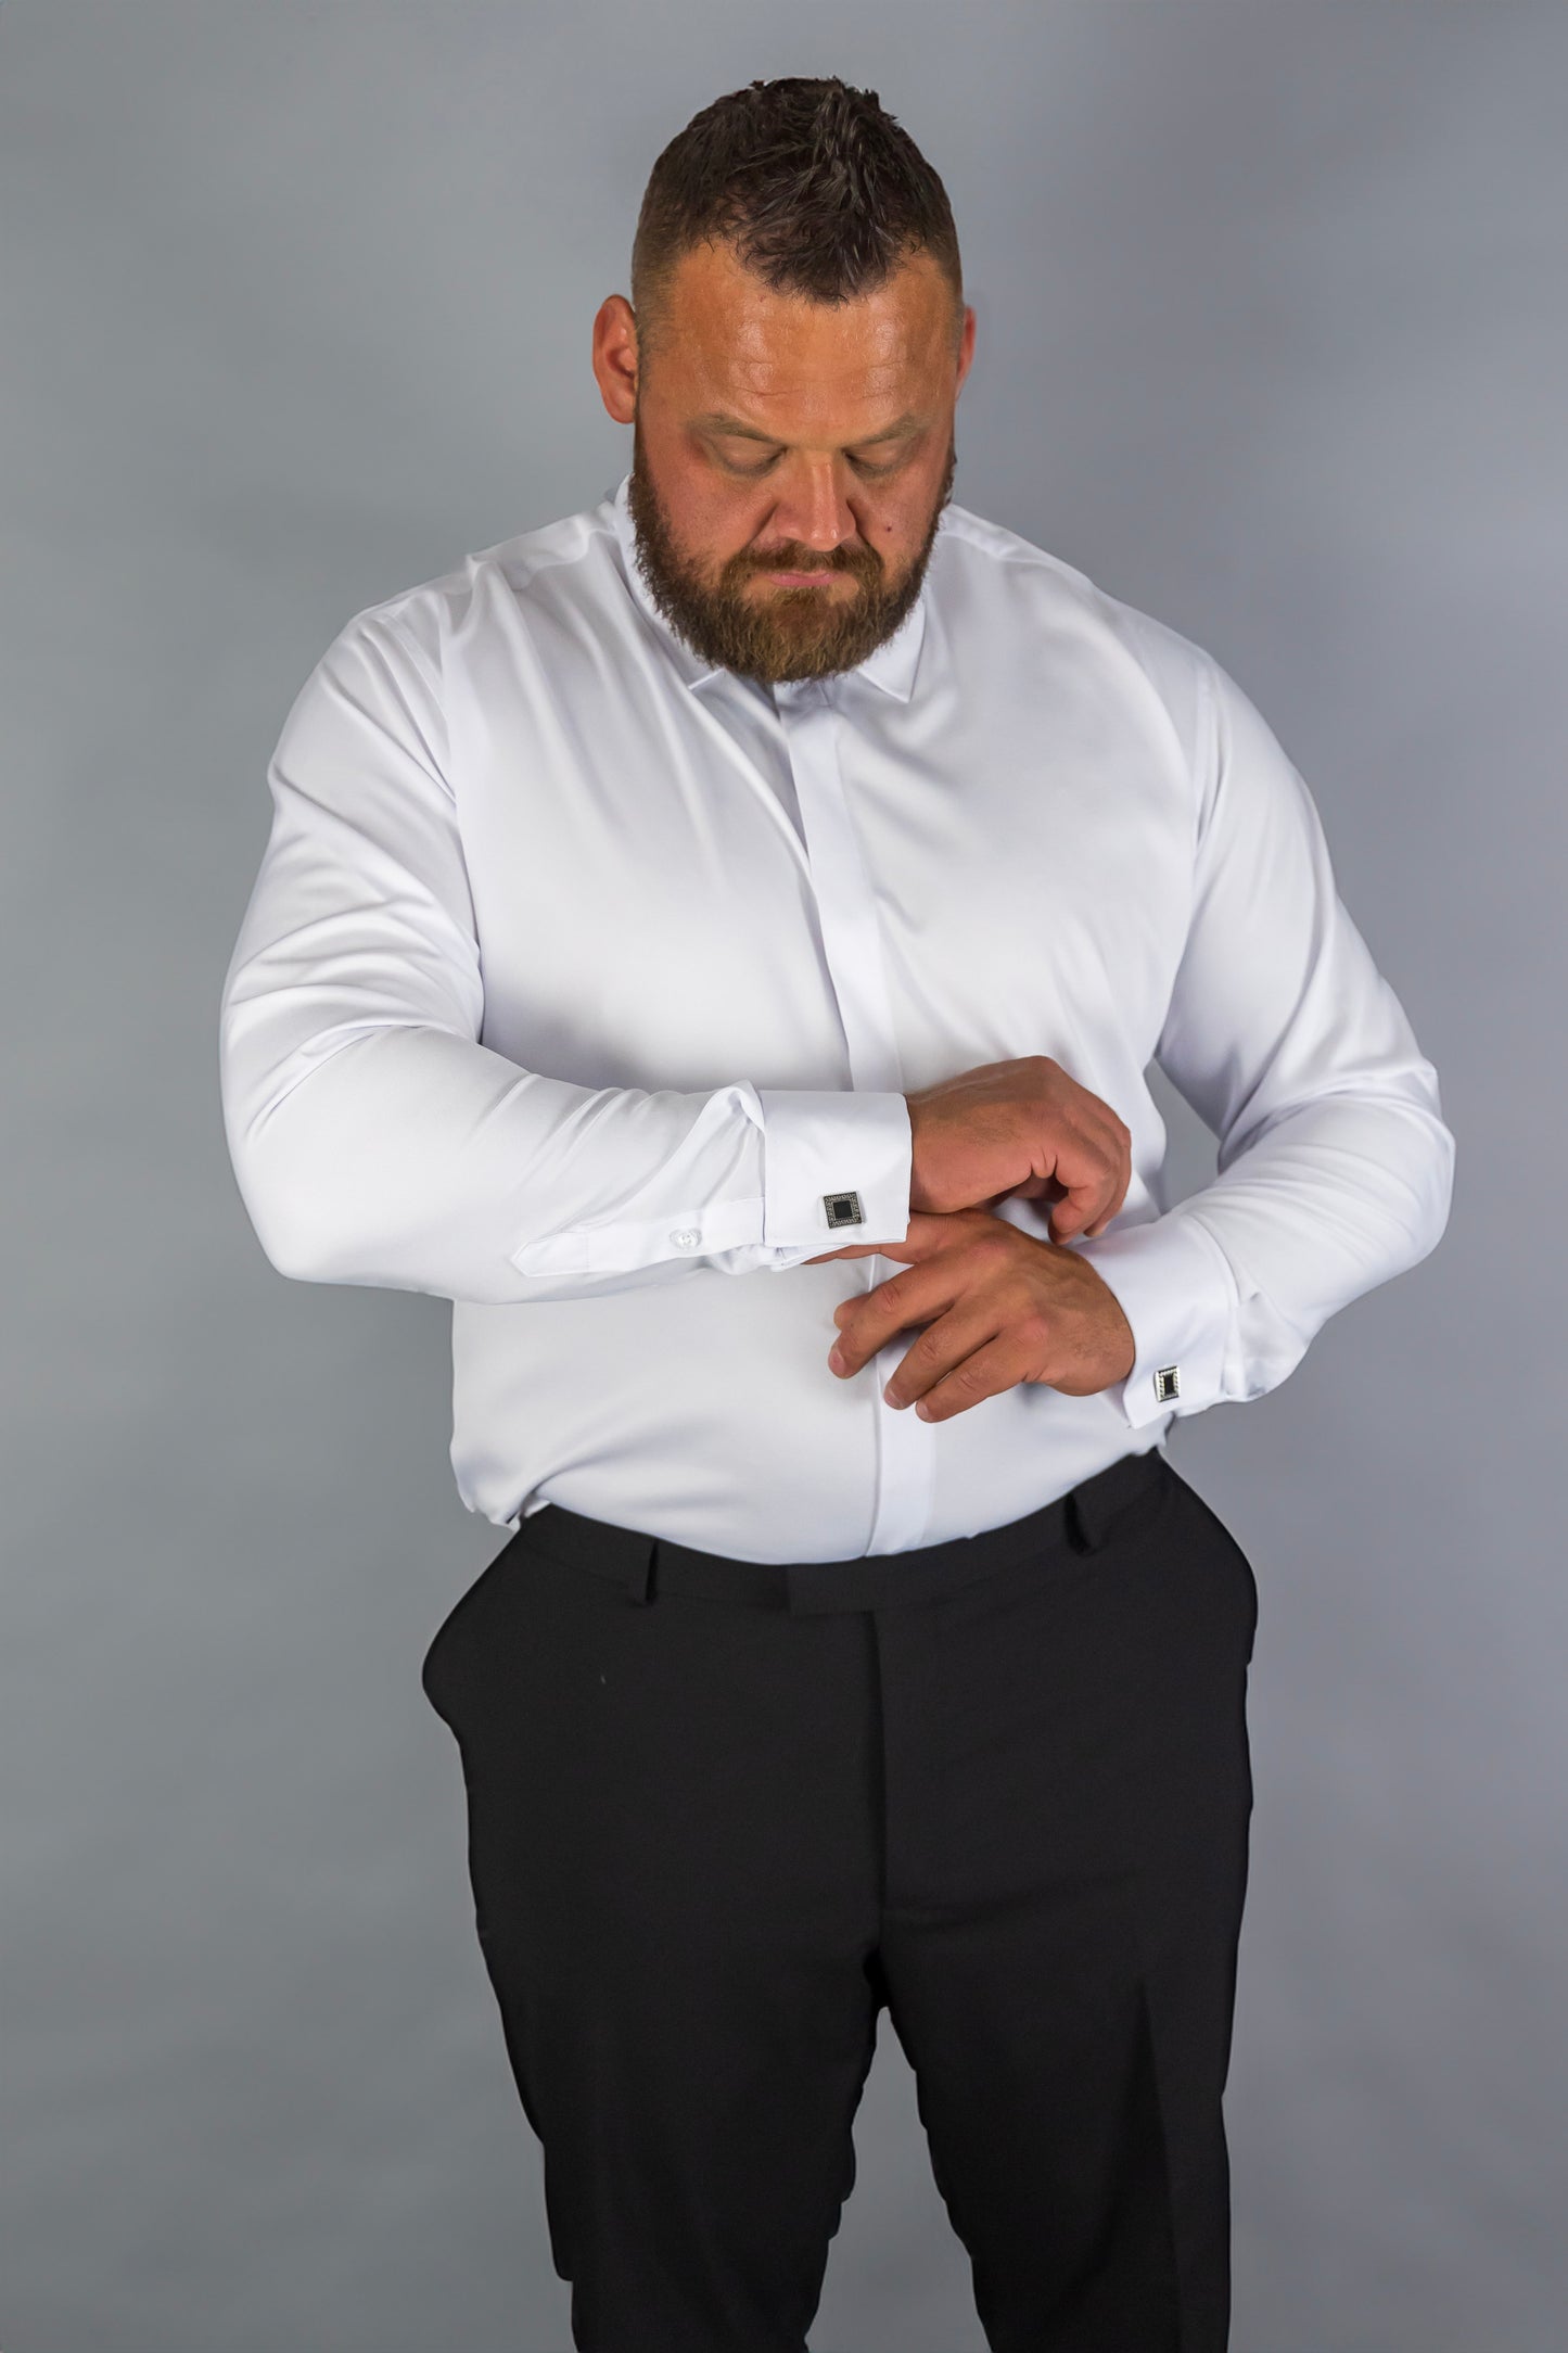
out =
[[[957,499],[1253,694],[1460,1144],[1171,1442],[1262,1593],[1232,2341],[1563,2344],[1566,68],[1495,0],[5,7],[7,2353],[569,2346],[416,1682],[503,1541],[449,1311],[270,1271],[216,1000],[306,671],[621,475],[654,155],[835,71],[952,193]],[[971,2353],[882,2024],[813,2353]]]

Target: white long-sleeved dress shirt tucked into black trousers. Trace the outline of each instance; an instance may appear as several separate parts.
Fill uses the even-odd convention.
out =
[[[1276,1388],[1448,1219],[1436,1073],[1265,720],[961,506],[893,638],[766,689],[661,619],[623,480],[355,614],[268,786],[221,1002],[240,1195],[284,1275],[454,1301],[451,1466],[501,1527],[969,1537]],[[903,1240],[905,1092],[1016,1054],[1131,1129],[1067,1247],[1138,1360],[926,1424],[882,1398],[914,1329],[827,1369],[898,1261],[802,1261]],[[1173,1207],[1150,1061],[1218,1139]]]

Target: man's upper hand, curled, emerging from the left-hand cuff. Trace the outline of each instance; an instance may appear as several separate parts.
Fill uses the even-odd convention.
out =
[[[940,1214],[1051,1193],[1053,1202],[1065,1198],[1048,1219],[1051,1240],[1065,1242],[1103,1233],[1126,1200],[1131,1129],[1048,1054],[985,1061],[905,1101],[910,1209]]]

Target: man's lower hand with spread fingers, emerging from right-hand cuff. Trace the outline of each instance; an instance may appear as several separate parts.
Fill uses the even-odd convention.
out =
[[[1034,1240],[990,1209],[961,1209],[912,1217],[903,1242],[827,1257],[867,1257],[872,1247],[907,1273],[832,1311],[839,1339],[827,1365],[849,1379],[896,1332],[924,1325],[886,1386],[891,1405],[919,1400],[924,1421],[947,1421],[1020,1381],[1091,1398],[1133,1369],[1121,1301],[1077,1249]]]

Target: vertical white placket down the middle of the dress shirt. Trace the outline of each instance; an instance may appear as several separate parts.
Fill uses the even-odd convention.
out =
[[[858,1092],[903,1094],[877,901],[839,767],[844,720],[820,680],[778,687],[776,704],[795,776],[823,958],[849,1047],[851,1085]],[[879,1252],[842,1264],[844,1273],[865,1271],[865,1289],[903,1271],[900,1259],[884,1259]],[[900,1332],[872,1362],[877,1487],[867,1553],[900,1553],[924,1544],[931,1525],[936,1431],[912,1405],[896,1409],[882,1395],[910,1346],[912,1334]]]

